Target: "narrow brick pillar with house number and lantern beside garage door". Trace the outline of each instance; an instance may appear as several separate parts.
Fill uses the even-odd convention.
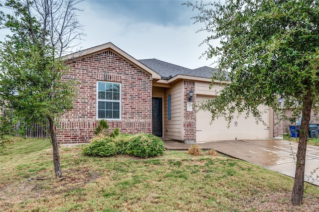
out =
[[[195,82],[193,81],[184,81],[183,82],[183,135],[184,141],[196,141],[196,110],[193,105],[192,111],[187,111],[187,103],[189,98],[189,91],[192,90],[193,97],[192,103],[196,101],[196,94],[195,94]]]

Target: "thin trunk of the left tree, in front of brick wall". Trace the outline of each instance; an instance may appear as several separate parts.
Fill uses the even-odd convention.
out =
[[[53,147],[53,164],[54,164],[55,176],[60,178],[62,177],[62,172],[61,172],[61,166],[60,166],[59,145],[56,139],[56,126],[51,117],[48,117],[48,119],[50,124],[51,143]]]

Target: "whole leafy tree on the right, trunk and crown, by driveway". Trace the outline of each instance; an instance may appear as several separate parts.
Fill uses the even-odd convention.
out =
[[[195,23],[210,36],[203,54],[218,56],[216,81],[229,82],[216,99],[201,109],[212,113],[212,120],[233,113],[253,114],[261,120],[257,106],[267,105],[283,112],[285,106],[302,113],[296,176],[291,200],[300,205],[304,193],[305,157],[310,112],[319,106],[319,1],[318,0],[226,0],[225,3],[187,2],[198,10]],[[220,46],[211,41],[220,40]],[[227,77],[224,73],[229,71]]]

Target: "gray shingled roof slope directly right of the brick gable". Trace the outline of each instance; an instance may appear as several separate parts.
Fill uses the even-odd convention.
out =
[[[139,61],[153,71],[160,74],[162,79],[169,79],[178,74],[185,74],[191,71],[191,69],[187,69],[185,67],[177,66],[171,63],[166,63],[157,59],[144,59]]]

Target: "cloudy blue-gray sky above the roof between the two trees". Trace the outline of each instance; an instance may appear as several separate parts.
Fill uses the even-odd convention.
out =
[[[199,59],[208,36],[196,31],[197,14],[182,5],[186,0],[86,0],[78,4],[86,37],[79,45],[87,49],[104,43],[114,45],[135,59],[156,58],[190,69],[211,66],[215,60]]]

